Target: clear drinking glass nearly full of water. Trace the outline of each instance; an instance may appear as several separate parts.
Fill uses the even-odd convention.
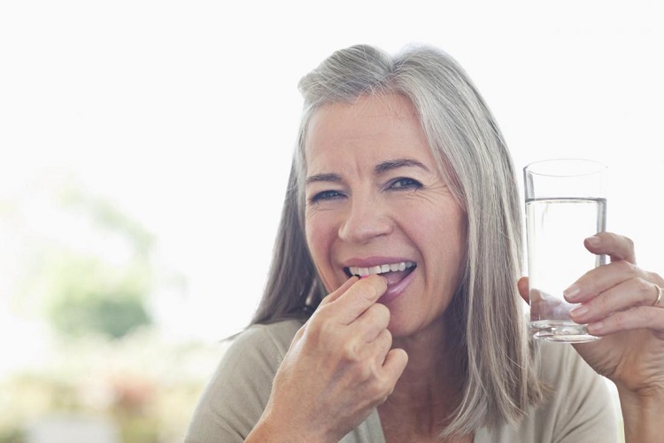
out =
[[[589,159],[548,159],[524,167],[530,331],[544,340],[597,339],[573,322],[576,306],[562,295],[591,268],[605,263],[583,239],[606,229],[606,166]]]

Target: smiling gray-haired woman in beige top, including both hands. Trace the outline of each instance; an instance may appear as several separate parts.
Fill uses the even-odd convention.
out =
[[[300,88],[266,292],[188,441],[613,441],[596,372],[618,386],[627,441],[662,435],[664,281],[628,239],[591,237],[613,262],[568,295],[603,338],[575,346],[587,364],[529,346],[512,161],[452,58],[354,46]]]

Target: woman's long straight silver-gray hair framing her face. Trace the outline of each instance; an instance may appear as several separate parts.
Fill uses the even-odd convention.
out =
[[[412,100],[441,174],[467,212],[462,283],[448,309],[466,380],[443,436],[517,424],[542,397],[522,301],[521,213],[512,159],[483,98],[443,51],[411,46],[394,57],[367,45],[336,51],[299,83],[305,99],[266,291],[252,323],[306,318],[325,289],[305,241],[305,138],[320,106],[366,94]]]

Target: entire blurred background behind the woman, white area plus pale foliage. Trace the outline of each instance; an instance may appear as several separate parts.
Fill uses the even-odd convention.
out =
[[[655,0],[0,3],[0,442],[181,441],[265,284],[297,81],[354,43],[452,54],[520,169],[604,161],[608,229],[664,272],[662,19]]]

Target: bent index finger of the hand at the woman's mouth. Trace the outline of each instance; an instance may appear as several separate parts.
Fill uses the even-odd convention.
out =
[[[328,306],[336,311],[341,323],[350,324],[378,301],[385,291],[387,283],[382,276],[367,276],[351,284],[347,291],[330,301]]]

